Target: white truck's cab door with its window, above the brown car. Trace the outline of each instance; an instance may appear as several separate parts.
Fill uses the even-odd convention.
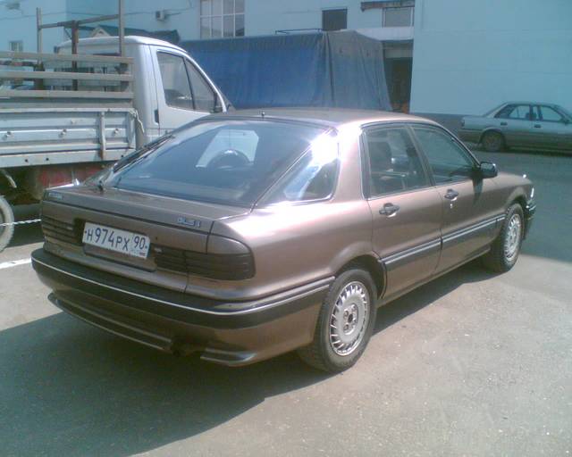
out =
[[[211,112],[223,111],[214,87],[186,55],[157,48],[155,60],[158,75],[155,118],[161,135]]]

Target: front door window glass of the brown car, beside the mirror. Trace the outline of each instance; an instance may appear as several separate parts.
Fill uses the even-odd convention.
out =
[[[414,127],[413,130],[437,185],[472,176],[475,162],[453,137],[444,131],[426,127]]]

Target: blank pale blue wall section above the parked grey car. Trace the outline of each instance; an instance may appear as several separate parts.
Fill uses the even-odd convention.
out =
[[[416,0],[411,111],[509,100],[572,109],[572,1]]]

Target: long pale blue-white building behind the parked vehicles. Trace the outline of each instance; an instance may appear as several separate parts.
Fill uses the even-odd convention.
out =
[[[383,41],[392,103],[407,109],[410,99],[411,112],[482,113],[515,99],[572,110],[572,0],[124,3],[128,28],[176,30],[181,40],[355,29]],[[114,13],[117,0],[0,0],[0,48],[36,50],[38,6],[55,22]],[[63,39],[46,30],[44,50]]]

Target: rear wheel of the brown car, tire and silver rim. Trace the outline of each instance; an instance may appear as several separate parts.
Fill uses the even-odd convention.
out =
[[[366,349],[375,326],[376,288],[366,270],[344,270],[335,279],[318,316],[314,341],[299,357],[318,370],[348,370]]]

